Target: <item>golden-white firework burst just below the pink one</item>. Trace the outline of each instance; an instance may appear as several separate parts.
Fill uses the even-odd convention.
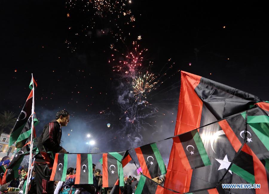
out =
[[[155,78],[156,76],[153,73],[147,72],[144,75],[140,73],[138,77],[133,79],[133,93],[136,101],[143,102],[143,99],[147,98],[146,95],[155,89],[154,86],[158,83]]]

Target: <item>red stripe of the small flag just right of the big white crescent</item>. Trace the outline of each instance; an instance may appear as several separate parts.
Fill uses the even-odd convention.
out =
[[[227,120],[222,120],[218,122],[219,126],[221,129],[224,131],[226,134],[226,137],[229,139],[230,143],[232,144],[234,150],[238,152],[238,150],[241,147],[241,142],[237,138],[236,134],[233,132],[232,128],[228,124]]]

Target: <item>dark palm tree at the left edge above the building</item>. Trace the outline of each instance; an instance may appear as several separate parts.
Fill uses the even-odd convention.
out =
[[[13,112],[4,111],[0,114],[0,137],[4,129],[9,129],[12,131],[12,127],[15,125],[17,118],[16,114]]]

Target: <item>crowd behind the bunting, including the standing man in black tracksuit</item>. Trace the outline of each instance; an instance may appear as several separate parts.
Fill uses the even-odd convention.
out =
[[[69,113],[66,110],[61,110],[56,114],[55,120],[45,125],[37,144],[39,152],[35,155],[34,170],[28,181],[29,194],[108,194],[111,191],[112,188],[103,188],[103,178],[100,174],[101,170],[97,169],[95,164],[92,166],[93,184],[75,184],[76,169],[72,167],[67,169],[65,181],[50,181],[54,159],[46,153],[67,153],[67,151],[60,146],[60,143],[62,127],[67,126],[69,118]],[[19,177],[12,180],[8,186],[21,188],[26,181],[25,177],[27,171],[28,169],[20,169]],[[163,178],[157,177],[152,180],[158,184],[162,184]],[[131,175],[125,177],[124,186],[120,187],[121,193],[134,194],[137,184],[138,181],[135,177]]]

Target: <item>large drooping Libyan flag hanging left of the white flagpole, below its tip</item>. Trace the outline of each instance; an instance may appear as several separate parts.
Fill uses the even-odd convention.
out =
[[[33,90],[31,90],[25,105],[22,108],[22,111],[13,127],[13,130],[10,134],[9,146],[14,144],[19,138],[22,130],[24,129],[29,117],[32,115],[32,104],[33,104]]]

